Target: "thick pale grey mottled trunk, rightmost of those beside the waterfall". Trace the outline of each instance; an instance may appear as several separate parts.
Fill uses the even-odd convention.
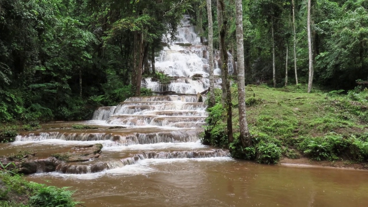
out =
[[[243,5],[241,0],[235,0],[236,8],[236,59],[238,63],[238,110],[240,140],[243,147],[252,145],[249,136],[247,113],[245,108],[245,66],[244,66],[244,38],[243,38]]]

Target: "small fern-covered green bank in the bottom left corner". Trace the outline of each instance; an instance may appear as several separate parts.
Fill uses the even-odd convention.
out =
[[[8,163],[5,163],[8,164]],[[0,162],[1,207],[74,207],[72,191],[26,181]]]

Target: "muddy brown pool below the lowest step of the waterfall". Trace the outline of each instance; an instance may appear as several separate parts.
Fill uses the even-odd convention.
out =
[[[125,169],[124,169],[125,168]],[[232,159],[150,160],[104,173],[32,175],[77,190],[87,207],[368,206],[368,172]]]

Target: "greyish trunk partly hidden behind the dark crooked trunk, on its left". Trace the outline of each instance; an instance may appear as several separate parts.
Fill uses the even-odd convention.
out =
[[[220,0],[217,0],[217,27],[219,28],[219,51],[220,51],[220,61],[219,61],[219,67],[221,69],[221,88],[222,88],[222,107],[225,108],[225,100],[226,100],[226,78],[224,76],[224,71],[222,64],[224,62],[224,54],[222,51],[222,45],[221,45],[221,27],[222,27],[222,8],[220,4]],[[226,51],[226,50],[225,50]],[[227,54],[227,53],[226,53]]]

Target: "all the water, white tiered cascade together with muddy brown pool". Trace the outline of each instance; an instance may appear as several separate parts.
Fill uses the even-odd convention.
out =
[[[178,42],[164,48],[156,60],[157,70],[176,80],[165,85],[146,78],[146,87],[191,94],[208,88],[206,46],[199,43],[188,19],[182,23]],[[219,75],[218,52],[215,56]],[[231,72],[233,63],[228,64]],[[203,77],[191,78],[193,74]],[[216,83],[219,87],[219,77]],[[196,101],[196,96],[128,98],[97,109],[90,121],[47,123],[42,130],[19,134],[14,143],[1,143],[0,153],[27,150],[47,157],[71,146],[102,143],[97,159],[27,177],[71,186],[78,190],[75,199],[85,201],[87,207],[368,206],[367,171],[261,165],[234,160],[227,150],[202,145],[207,112],[205,103]],[[72,124],[98,129],[71,129]]]

